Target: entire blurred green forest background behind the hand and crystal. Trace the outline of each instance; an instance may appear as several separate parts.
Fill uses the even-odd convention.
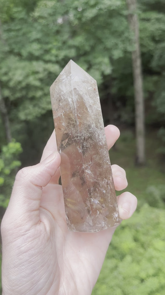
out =
[[[138,0],[145,102],[145,165],[136,165],[134,33],[124,0],[0,0],[0,214],[15,174],[37,163],[53,130],[49,88],[70,59],[97,80],[110,151],[138,198],[122,222],[93,295],[165,290],[165,3]]]

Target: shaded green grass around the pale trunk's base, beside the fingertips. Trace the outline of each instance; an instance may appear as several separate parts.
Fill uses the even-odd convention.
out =
[[[164,166],[157,153],[158,148],[159,141],[156,138],[156,132],[148,132],[146,137],[146,165],[136,166],[135,139],[133,133],[127,130],[121,132],[115,148],[110,150],[111,163],[116,163],[126,170],[128,187],[123,191],[130,191],[136,195],[138,209],[144,203],[149,203],[154,207],[164,205],[163,202],[160,202],[160,204],[157,200],[160,195],[160,198],[165,201],[165,173],[163,171]],[[154,204],[154,199],[156,204]]]

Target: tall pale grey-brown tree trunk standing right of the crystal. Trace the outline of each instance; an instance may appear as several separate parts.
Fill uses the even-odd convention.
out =
[[[126,2],[129,11],[129,26],[131,31],[134,33],[134,51],[132,51],[132,68],[134,77],[135,98],[136,162],[139,165],[143,165],[145,164],[145,123],[141,53],[139,44],[139,22],[138,16],[136,14],[136,0],[126,0]]]

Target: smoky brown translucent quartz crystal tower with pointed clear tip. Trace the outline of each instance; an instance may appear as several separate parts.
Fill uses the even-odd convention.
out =
[[[50,87],[68,228],[120,223],[96,81],[72,60]]]

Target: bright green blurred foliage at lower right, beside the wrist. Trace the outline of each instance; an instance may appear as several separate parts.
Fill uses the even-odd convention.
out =
[[[164,210],[144,205],[123,221],[109,246],[92,295],[163,295]]]

